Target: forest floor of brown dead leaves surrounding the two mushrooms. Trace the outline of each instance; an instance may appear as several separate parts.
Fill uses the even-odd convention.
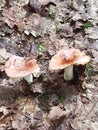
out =
[[[0,130],[98,130],[98,1],[0,1]],[[66,47],[91,58],[72,81],[48,70]],[[33,83],[6,75],[10,55],[37,59]]]

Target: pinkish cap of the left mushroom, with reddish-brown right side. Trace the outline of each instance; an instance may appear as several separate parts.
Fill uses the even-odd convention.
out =
[[[25,77],[31,73],[39,73],[40,68],[35,59],[24,59],[11,56],[5,64],[5,72],[9,77]]]

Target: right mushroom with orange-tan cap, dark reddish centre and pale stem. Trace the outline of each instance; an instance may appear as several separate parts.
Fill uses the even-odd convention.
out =
[[[64,69],[64,79],[73,79],[73,65],[85,65],[90,61],[90,57],[79,49],[62,49],[52,57],[49,62],[49,70]]]

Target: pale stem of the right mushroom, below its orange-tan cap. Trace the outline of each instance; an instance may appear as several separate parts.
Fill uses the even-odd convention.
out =
[[[64,69],[64,79],[70,81],[73,79],[73,65],[68,66]]]

